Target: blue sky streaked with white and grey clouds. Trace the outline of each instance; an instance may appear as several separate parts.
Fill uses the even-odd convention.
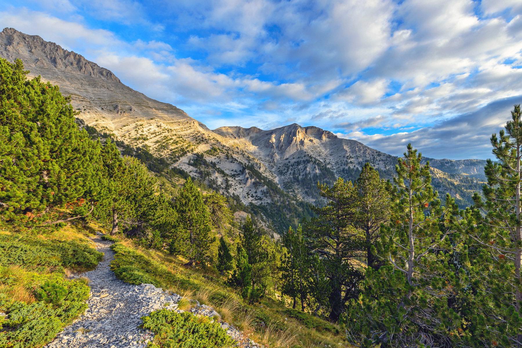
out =
[[[210,128],[298,123],[392,154],[411,141],[490,158],[522,103],[522,0],[0,0],[0,26]]]

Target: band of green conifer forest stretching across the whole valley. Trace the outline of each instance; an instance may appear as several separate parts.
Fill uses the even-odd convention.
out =
[[[96,220],[219,271],[248,302],[282,296],[339,322],[355,346],[522,347],[519,105],[491,138],[473,206],[435,192],[408,145],[393,182],[366,164],[353,183],[319,183],[325,205],[272,238],[190,177],[162,189],[115,141],[82,129],[57,86],[26,74],[0,59],[0,229]]]

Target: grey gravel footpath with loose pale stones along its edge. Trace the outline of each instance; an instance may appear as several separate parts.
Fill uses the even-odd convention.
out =
[[[103,241],[101,238],[94,241],[104,257],[96,269],[81,274],[90,281],[91,296],[87,300],[88,308],[45,347],[145,348],[152,342],[154,333],[139,328],[141,317],[161,308],[181,313],[182,310],[176,309],[181,296],[163,291],[152,284],[132,285],[117,279],[110,269],[110,263],[114,259],[114,251],[110,248],[112,242]],[[197,301],[193,302],[191,312],[208,317],[217,314],[213,308],[199,305]],[[238,341],[240,347],[263,347],[226,322],[221,322],[221,327]]]

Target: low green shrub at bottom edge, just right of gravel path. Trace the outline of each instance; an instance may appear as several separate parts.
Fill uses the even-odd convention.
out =
[[[141,318],[143,327],[154,332],[154,343],[160,348],[224,348],[235,341],[217,322],[191,313],[161,309]]]

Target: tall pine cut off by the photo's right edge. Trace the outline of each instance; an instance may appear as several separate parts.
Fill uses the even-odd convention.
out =
[[[522,115],[515,105],[511,120],[499,136],[491,136],[497,162],[485,166],[487,185],[485,201],[474,196],[477,223],[469,236],[478,245],[477,262],[472,275],[479,279],[477,297],[480,311],[475,321],[481,322],[480,337],[499,346],[522,346]],[[481,214],[482,212],[482,214]],[[480,252],[480,250],[482,252]],[[478,335],[478,334],[477,334]],[[480,341],[477,343],[480,344]]]

